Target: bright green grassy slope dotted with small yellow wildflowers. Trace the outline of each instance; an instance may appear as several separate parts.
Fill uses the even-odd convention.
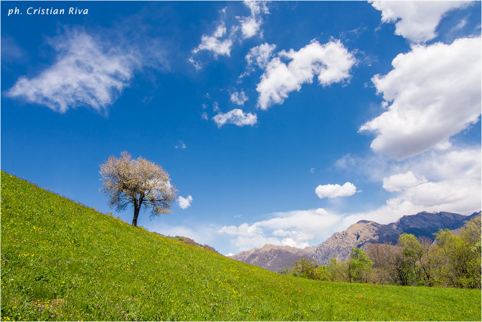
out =
[[[283,276],[1,185],[2,320],[480,320],[480,290]]]

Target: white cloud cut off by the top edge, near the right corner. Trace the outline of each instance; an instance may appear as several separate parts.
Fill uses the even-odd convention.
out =
[[[469,1],[373,1],[382,12],[383,23],[395,23],[395,35],[413,43],[424,43],[437,36],[435,29],[452,9],[470,5]]]

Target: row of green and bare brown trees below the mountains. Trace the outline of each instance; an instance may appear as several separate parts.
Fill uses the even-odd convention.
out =
[[[371,244],[351,251],[344,262],[327,265],[301,258],[282,273],[315,280],[460,288],[481,287],[481,220],[467,221],[460,232],[445,229],[435,240],[401,234],[395,245]]]

